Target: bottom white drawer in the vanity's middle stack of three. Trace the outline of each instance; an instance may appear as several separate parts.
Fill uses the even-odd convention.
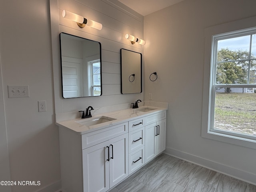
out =
[[[129,174],[144,165],[144,146],[129,154]]]

